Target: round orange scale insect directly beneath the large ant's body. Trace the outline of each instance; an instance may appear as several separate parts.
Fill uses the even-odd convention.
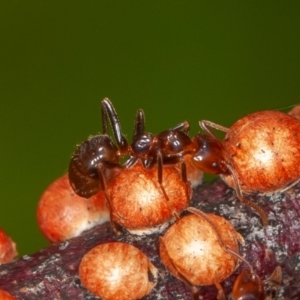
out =
[[[107,186],[114,222],[133,234],[162,232],[189,204],[191,188],[179,170],[164,166],[160,184],[157,169],[157,164],[147,169],[137,161]]]

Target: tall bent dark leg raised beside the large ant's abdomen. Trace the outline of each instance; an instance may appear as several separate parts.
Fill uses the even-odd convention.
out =
[[[101,102],[102,106],[102,126],[104,134],[107,134],[107,118],[110,120],[110,124],[114,133],[114,137],[118,144],[121,154],[127,153],[128,142],[122,133],[121,124],[118,119],[116,110],[108,98],[104,98]]]

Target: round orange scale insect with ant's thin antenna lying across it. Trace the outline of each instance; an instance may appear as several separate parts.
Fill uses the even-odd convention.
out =
[[[238,242],[243,237],[224,218],[189,207],[192,214],[177,220],[160,238],[160,258],[166,268],[191,287],[215,285],[218,299],[225,299],[220,284],[239,265]],[[227,249],[231,249],[229,252]]]

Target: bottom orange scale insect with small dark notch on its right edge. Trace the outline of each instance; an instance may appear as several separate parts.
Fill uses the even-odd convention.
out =
[[[79,265],[83,285],[106,300],[142,299],[155,287],[157,273],[143,252],[120,242],[92,248]]]

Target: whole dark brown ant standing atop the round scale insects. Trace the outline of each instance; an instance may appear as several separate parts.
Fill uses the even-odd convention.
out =
[[[121,130],[117,113],[109,99],[101,102],[102,134],[92,136],[77,146],[70,164],[69,180],[76,194],[89,198],[100,190],[106,191],[109,180],[123,168],[133,166],[140,160],[143,166],[150,169],[158,166],[158,183],[168,201],[168,195],[162,186],[163,167],[180,165],[182,180],[188,182],[185,158],[190,157],[192,165],[211,174],[232,175],[237,197],[254,208],[267,224],[265,212],[255,203],[243,197],[237,175],[233,167],[225,160],[223,143],[209,130],[208,126],[228,132],[229,129],[209,121],[201,121],[200,126],[206,134],[189,137],[190,125],[184,121],[156,135],[145,131],[145,115],[142,109],[136,114],[133,141],[129,145]],[[110,122],[116,144],[108,136]],[[120,160],[127,159],[123,164]],[[188,193],[187,193],[188,194]],[[110,206],[109,197],[108,205]],[[178,219],[178,215],[174,212]]]

